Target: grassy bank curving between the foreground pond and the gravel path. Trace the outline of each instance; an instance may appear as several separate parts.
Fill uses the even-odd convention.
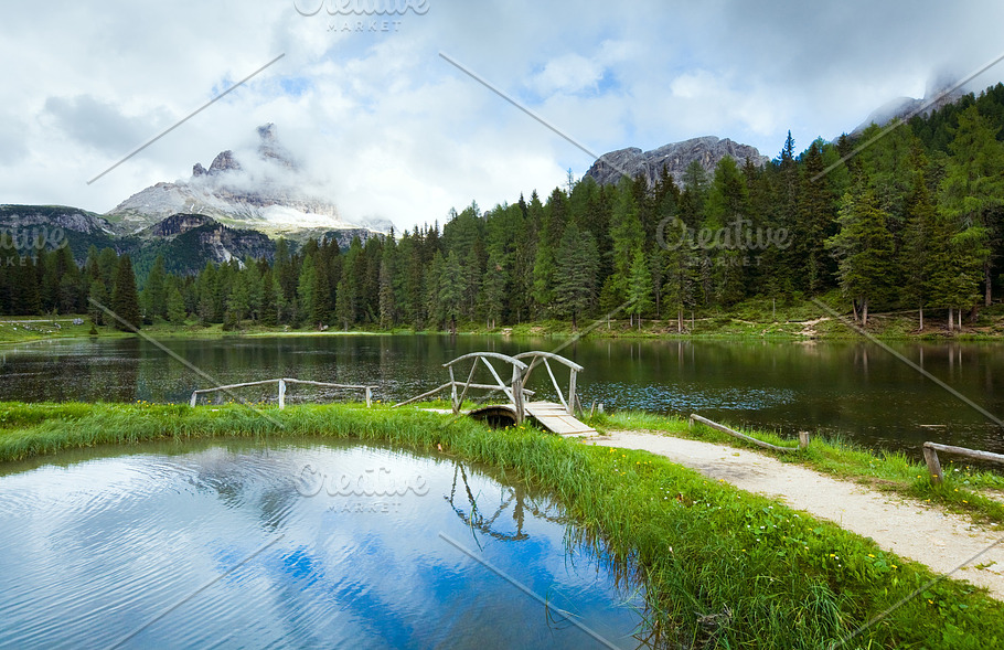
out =
[[[667,647],[820,648],[891,612],[844,648],[986,648],[1004,605],[873,542],[643,451],[584,446],[528,428],[355,405],[266,408],[0,404],[0,459],[145,440],[353,438],[437,446],[549,490],[581,525],[639,566],[650,631]],[[914,595],[916,589],[920,592]],[[905,603],[894,607],[900,599]]]

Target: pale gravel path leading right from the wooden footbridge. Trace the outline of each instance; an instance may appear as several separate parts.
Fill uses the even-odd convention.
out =
[[[841,481],[755,451],[638,431],[611,431],[586,445],[644,449],[741,490],[779,499],[879,546],[986,587],[1004,600],[1004,533],[929,504]],[[982,555],[972,560],[982,552]],[[979,568],[983,567],[983,568]]]

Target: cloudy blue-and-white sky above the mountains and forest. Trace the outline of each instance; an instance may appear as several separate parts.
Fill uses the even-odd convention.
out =
[[[1004,52],[1004,4],[989,1],[356,4],[407,2],[6,3],[0,203],[104,213],[275,122],[343,216],[408,227],[549,193],[592,163],[440,54],[596,154],[715,135],[773,158],[788,129],[802,150]],[[969,88],[1002,79],[1004,64]]]

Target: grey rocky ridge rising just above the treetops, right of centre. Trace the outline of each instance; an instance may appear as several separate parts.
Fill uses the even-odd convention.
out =
[[[761,156],[756,147],[739,145],[728,138],[705,136],[672,142],[651,151],[642,151],[637,147],[611,151],[592,163],[586,175],[600,184],[608,184],[617,183],[624,173],[632,179],[642,173],[651,188],[665,168],[673,180],[681,184],[684,170],[695,160],[711,173],[726,156],[734,158],[740,166],[745,164],[747,159],[756,166],[763,166],[769,160],[768,157]]]

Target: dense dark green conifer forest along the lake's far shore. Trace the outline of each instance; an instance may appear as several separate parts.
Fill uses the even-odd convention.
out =
[[[683,328],[691,310],[839,290],[863,324],[876,309],[910,308],[921,323],[938,309],[961,327],[1004,281],[1002,127],[998,84],[801,153],[789,134],[763,167],[726,158],[708,174],[694,163],[679,185],[664,169],[653,185],[585,178],[544,200],[472,203],[441,228],[356,238],[346,251],[280,241],[271,260],[189,277],[158,259],[139,294],[127,256],[92,248],[78,268],[68,248],[42,252],[0,266],[0,312],[108,322],[93,298],[137,322],[453,330],[622,312]]]

